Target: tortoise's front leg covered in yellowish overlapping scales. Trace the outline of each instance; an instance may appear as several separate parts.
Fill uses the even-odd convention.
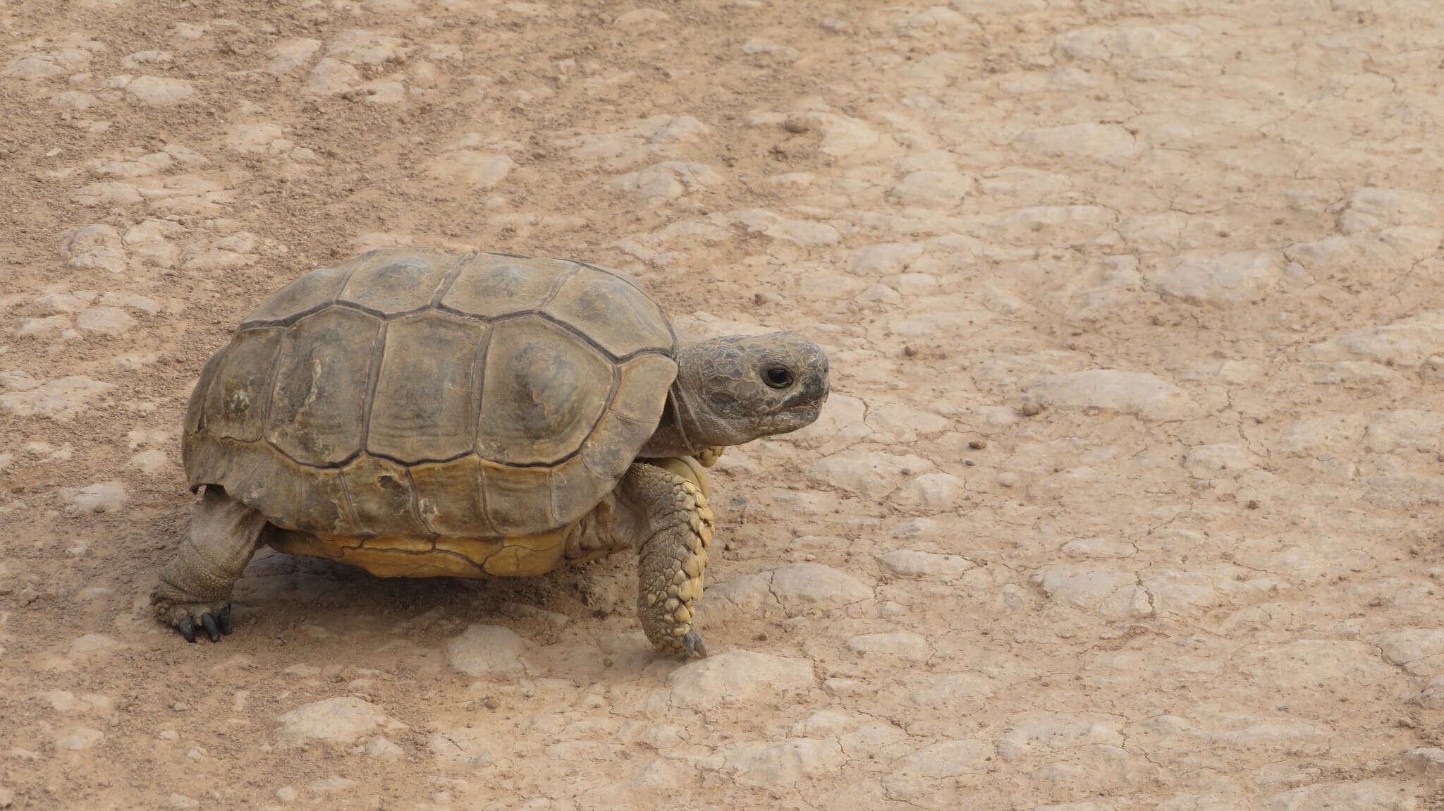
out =
[[[658,651],[706,657],[708,646],[692,628],[712,543],[706,473],[692,459],[654,459],[632,465],[622,488],[643,538],[637,550],[641,629]]]

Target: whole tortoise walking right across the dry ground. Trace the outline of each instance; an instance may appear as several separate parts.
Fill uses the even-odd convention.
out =
[[[827,390],[816,343],[680,339],[612,270],[374,250],[276,291],[205,364],[182,439],[202,495],[152,605],[218,641],[261,544],[381,577],[536,576],[630,548],[647,638],[705,657],[706,468],[810,424]]]

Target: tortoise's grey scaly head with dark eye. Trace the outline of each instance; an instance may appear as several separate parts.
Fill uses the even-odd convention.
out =
[[[827,400],[827,355],[790,332],[693,343],[677,352],[677,429],[692,446],[796,431]]]

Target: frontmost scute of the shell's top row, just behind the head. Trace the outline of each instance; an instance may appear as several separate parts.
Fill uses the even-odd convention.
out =
[[[591,267],[566,280],[543,312],[575,326],[614,358],[673,348],[656,302],[630,281]]]

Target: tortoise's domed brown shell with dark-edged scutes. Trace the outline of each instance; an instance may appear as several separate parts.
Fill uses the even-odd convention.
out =
[[[287,530],[546,532],[651,437],[674,349],[661,307],[608,270],[371,251],[292,281],[211,358],[186,476]]]

